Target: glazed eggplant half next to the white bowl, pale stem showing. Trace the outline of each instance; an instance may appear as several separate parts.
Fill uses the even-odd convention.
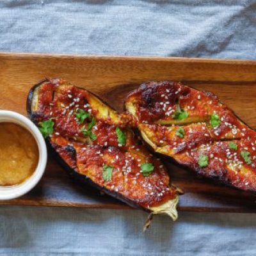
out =
[[[27,109],[72,175],[133,207],[177,219],[177,189],[161,161],[127,128],[131,115],[60,79],[36,84]]]

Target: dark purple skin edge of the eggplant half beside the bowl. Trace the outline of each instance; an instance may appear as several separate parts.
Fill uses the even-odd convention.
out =
[[[38,125],[38,122],[36,121],[36,113],[33,113],[33,111],[31,110],[31,104],[32,104],[32,100],[33,100],[33,96],[34,96],[34,92],[35,92],[35,89],[40,86],[41,84],[45,83],[45,82],[48,82],[50,81],[50,79],[44,79],[42,81],[40,81],[39,83],[35,84],[31,90],[29,90],[29,93],[28,93],[28,98],[27,98],[27,102],[26,102],[26,109],[27,109],[27,113],[28,113],[28,116],[30,118],[30,120],[37,126]],[[87,90],[88,91],[88,90]],[[90,92],[90,91],[88,91]],[[91,92],[90,92],[91,93]],[[93,94],[93,93],[92,93]],[[98,96],[97,96],[98,97]],[[98,97],[99,98],[99,97]],[[99,98],[100,99],[100,98]],[[100,99],[101,100],[101,99]],[[103,102],[103,101],[102,101]],[[106,104],[106,103],[105,103]],[[57,159],[58,163],[60,163],[60,165],[63,167],[63,169],[69,173],[69,175],[71,177],[73,177],[77,182],[79,182],[81,185],[90,185],[92,186],[93,188],[96,188],[98,189],[99,191],[102,191],[104,193],[106,193],[106,195],[109,195],[109,196],[112,196],[113,198],[116,198],[117,200],[120,200],[122,202],[124,202],[125,204],[133,207],[133,208],[136,208],[136,209],[141,209],[143,211],[146,211],[146,212],[150,212],[150,210],[144,208],[144,207],[141,207],[140,205],[138,204],[135,204],[132,200],[129,200],[127,198],[125,198],[124,196],[122,196],[120,193],[116,193],[116,192],[113,192],[113,191],[109,191],[108,189],[102,187],[102,186],[99,186],[98,184],[96,184],[95,182],[93,182],[90,178],[88,178],[86,175],[81,175],[80,173],[77,172],[76,168],[73,169],[71,168],[64,160],[63,158],[60,156],[60,154],[58,154],[58,152],[56,152],[56,150],[54,149],[54,147],[52,147],[52,143],[50,142],[49,138],[46,138],[45,139],[45,142],[47,144],[47,148],[49,148],[52,156],[54,156],[54,158]]]

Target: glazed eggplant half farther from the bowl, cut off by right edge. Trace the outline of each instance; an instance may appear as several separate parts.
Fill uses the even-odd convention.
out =
[[[155,152],[205,177],[256,191],[256,132],[216,95],[149,82],[129,93],[125,108]]]

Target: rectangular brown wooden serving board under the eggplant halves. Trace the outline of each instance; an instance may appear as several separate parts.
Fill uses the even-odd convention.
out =
[[[99,95],[118,111],[123,109],[125,95],[141,82],[182,81],[216,93],[256,129],[256,61],[0,53],[0,109],[26,115],[29,89],[44,77],[67,79]],[[180,210],[256,212],[256,195],[166,164],[172,183],[185,193],[180,196]],[[76,184],[51,156],[44,177],[33,191],[0,204],[129,209],[90,187]]]

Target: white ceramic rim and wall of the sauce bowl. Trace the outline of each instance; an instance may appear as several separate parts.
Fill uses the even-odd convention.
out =
[[[0,110],[0,122],[13,122],[27,129],[34,136],[38,145],[39,157],[35,172],[23,183],[16,186],[0,186],[0,200],[9,200],[22,196],[33,189],[44,174],[47,162],[45,140],[35,124],[25,116],[13,111]],[[1,143],[1,141],[0,141]],[[0,163],[1,165],[1,163]]]

